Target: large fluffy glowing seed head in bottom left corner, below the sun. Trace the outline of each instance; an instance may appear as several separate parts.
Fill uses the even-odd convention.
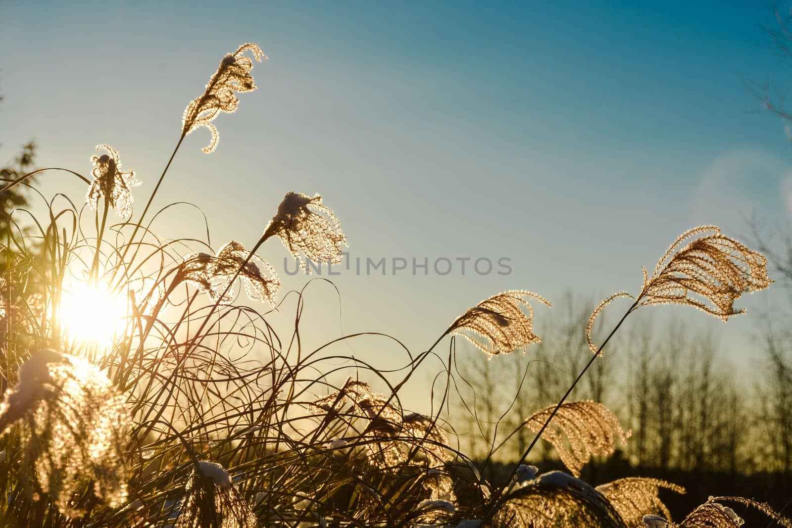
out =
[[[131,429],[126,398],[101,370],[84,359],[37,352],[20,368],[19,382],[0,408],[2,423],[25,423],[24,462],[34,469],[36,488],[64,515],[85,513],[72,496],[89,483],[109,507],[125,502],[124,445]]]

